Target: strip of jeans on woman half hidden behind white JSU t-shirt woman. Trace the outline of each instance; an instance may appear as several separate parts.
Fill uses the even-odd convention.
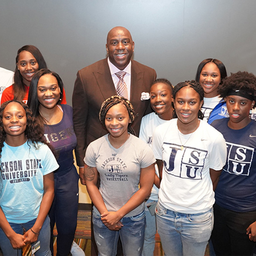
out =
[[[156,235],[156,216],[151,215],[147,205],[153,203],[153,200],[147,200],[145,207],[146,214],[146,228],[145,228],[145,239],[142,255],[143,256],[153,256],[155,249],[155,235]]]

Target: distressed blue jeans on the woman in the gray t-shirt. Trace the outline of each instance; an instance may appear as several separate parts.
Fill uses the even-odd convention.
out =
[[[145,212],[121,219],[123,227],[119,231],[109,230],[100,215],[93,212],[94,237],[100,256],[116,256],[120,236],[124,256],[140,256],[144,243]]]

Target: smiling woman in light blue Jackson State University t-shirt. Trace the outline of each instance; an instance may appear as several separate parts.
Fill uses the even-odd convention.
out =
[[[0,246],[4,255],[21,256],[22,247],[37,241],[36,255],[50,255],[47,214],[54,197],[53,172],[59,165],[44,141],[43,130],[26,104],[1,105],[0,158],[5,166],[1,168]]]

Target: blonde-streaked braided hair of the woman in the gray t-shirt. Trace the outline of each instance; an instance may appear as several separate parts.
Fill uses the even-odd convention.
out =
[[[134,121],[134,110],[133,110],[133,106],[132,104],[130,103],[129,100],[127,100],[126,98],[124,97],[120,97],[120,96],[111,96],[110,98],[106,99],[102,105],[101,105],[101,108],[100,108],[100,113],[99,113],[99,119],[100,119],[100,123],[106,128],[105,126],[105,117],[106,117],[106,114],[107,114],[107,111],[114,105],[117,105],[117,104],[123,104],[126,108],[127,108],[127,111],[129,113],[129,117],[131,119],[131,123],[128,124],[128,132],[130,132],[131,134],[133,135],[136,135],[135,131],[133,130],[133,128],[131,127],[133,121]]]

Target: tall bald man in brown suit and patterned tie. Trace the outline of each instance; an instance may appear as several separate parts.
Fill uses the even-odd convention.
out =
[[[132,127],[137,135],[141,119],[150,112],[150,102],[140,100],[141,93],[149,92],[151,84],[156,79],[154,69],[131,61],[134,42],[125,27],[117,26],[108,32],[106,50],[108,58],[77,72],[73,91],[73,120],[77,136],[75,155],[83,185],[83,158],[86,149],[93,140],[107,133],[100,124],[99,111],[104,100],[118,95],[117,88],[121,79],[117,73],[126,72],[123,79],[127,88],[126,96],[134,107],[136,117]],[[98,255],[93,240],[92,234],[92,255]]]

